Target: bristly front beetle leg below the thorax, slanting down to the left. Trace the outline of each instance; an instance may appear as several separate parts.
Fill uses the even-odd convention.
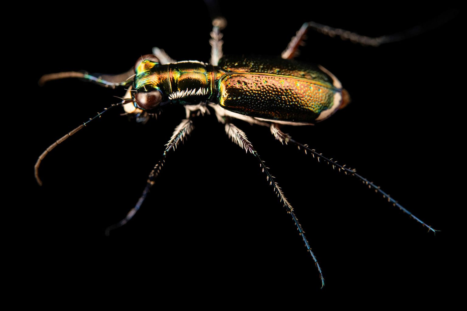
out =
[[[141,197],[136,202],[136,205],[132,209],[130,209],[130,211],[128,212],[127,216],[125,216],[125,218],[113,224],[112,226],[109,226],[106,228],[106,236],[110,235],[111,230],[120,228],[121,226],[123,226],[124,224],[126,224],[128,221],[130,221],[133,218],[134,214],[136,214],[136,212],[140,209],[141,205],[146,199],[146,196],[148,195],[149,190],[154,185],[154,180],[156,179],[157,176],[159,176],[159,173],[161,172],[161,169],[165,163],[167,152],[169,152],[171,149],[175,151],[175,149],[177,148],[177,145],[179,143],[183,143],[184,138],[187,137],[187,135],[189,135],[192,130],[193,130],[193,121],[191,121],[190,118],[186,118],[180,124],[178,124],[169,142],[165,145],[166,148],[163,152],[162,159],[160,159],[159,162],[157,162],[157,164],[152,169],[151,173],[149,173],[146,187],[144,187],[143,193],[141,194]]]

